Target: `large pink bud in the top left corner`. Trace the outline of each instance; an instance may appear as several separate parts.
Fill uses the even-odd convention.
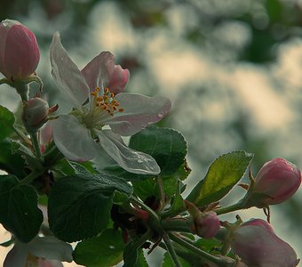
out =
[[[0,72],[9,80],[24,80],[32,75],[40,60],[33,32],[17,20],[0,23]]]

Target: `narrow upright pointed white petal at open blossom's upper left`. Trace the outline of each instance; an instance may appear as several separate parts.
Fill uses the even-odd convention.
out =
[[[62,87],[70,103],[81,109],[84,101],[89,97],[89,87],[81,71],[69,58],[63,45],[60,43],[60,34],[56,32],[51,44],[52,77],[56,84]]]

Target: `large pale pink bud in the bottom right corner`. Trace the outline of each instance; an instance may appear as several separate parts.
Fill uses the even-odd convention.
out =
[[[275,235],[269,223],[260,219],[250,220],[237,228],[231,247],[248,266],[294,267],[299,262],[294,249]]]

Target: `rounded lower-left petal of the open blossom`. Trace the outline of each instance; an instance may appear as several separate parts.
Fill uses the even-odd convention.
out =
[[[75,161],[94,158],[98,146],[90,131],[72,115],[61,115],[52,122],[53,140],[63,155]]]

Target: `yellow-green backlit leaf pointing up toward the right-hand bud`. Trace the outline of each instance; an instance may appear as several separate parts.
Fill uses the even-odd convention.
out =
[[[197,183],[187,200],[196,206],[205,206],[225,197],[240,181],[252,158],[253,155],[245,151],[220,156],[211,164],[205,178]]]

